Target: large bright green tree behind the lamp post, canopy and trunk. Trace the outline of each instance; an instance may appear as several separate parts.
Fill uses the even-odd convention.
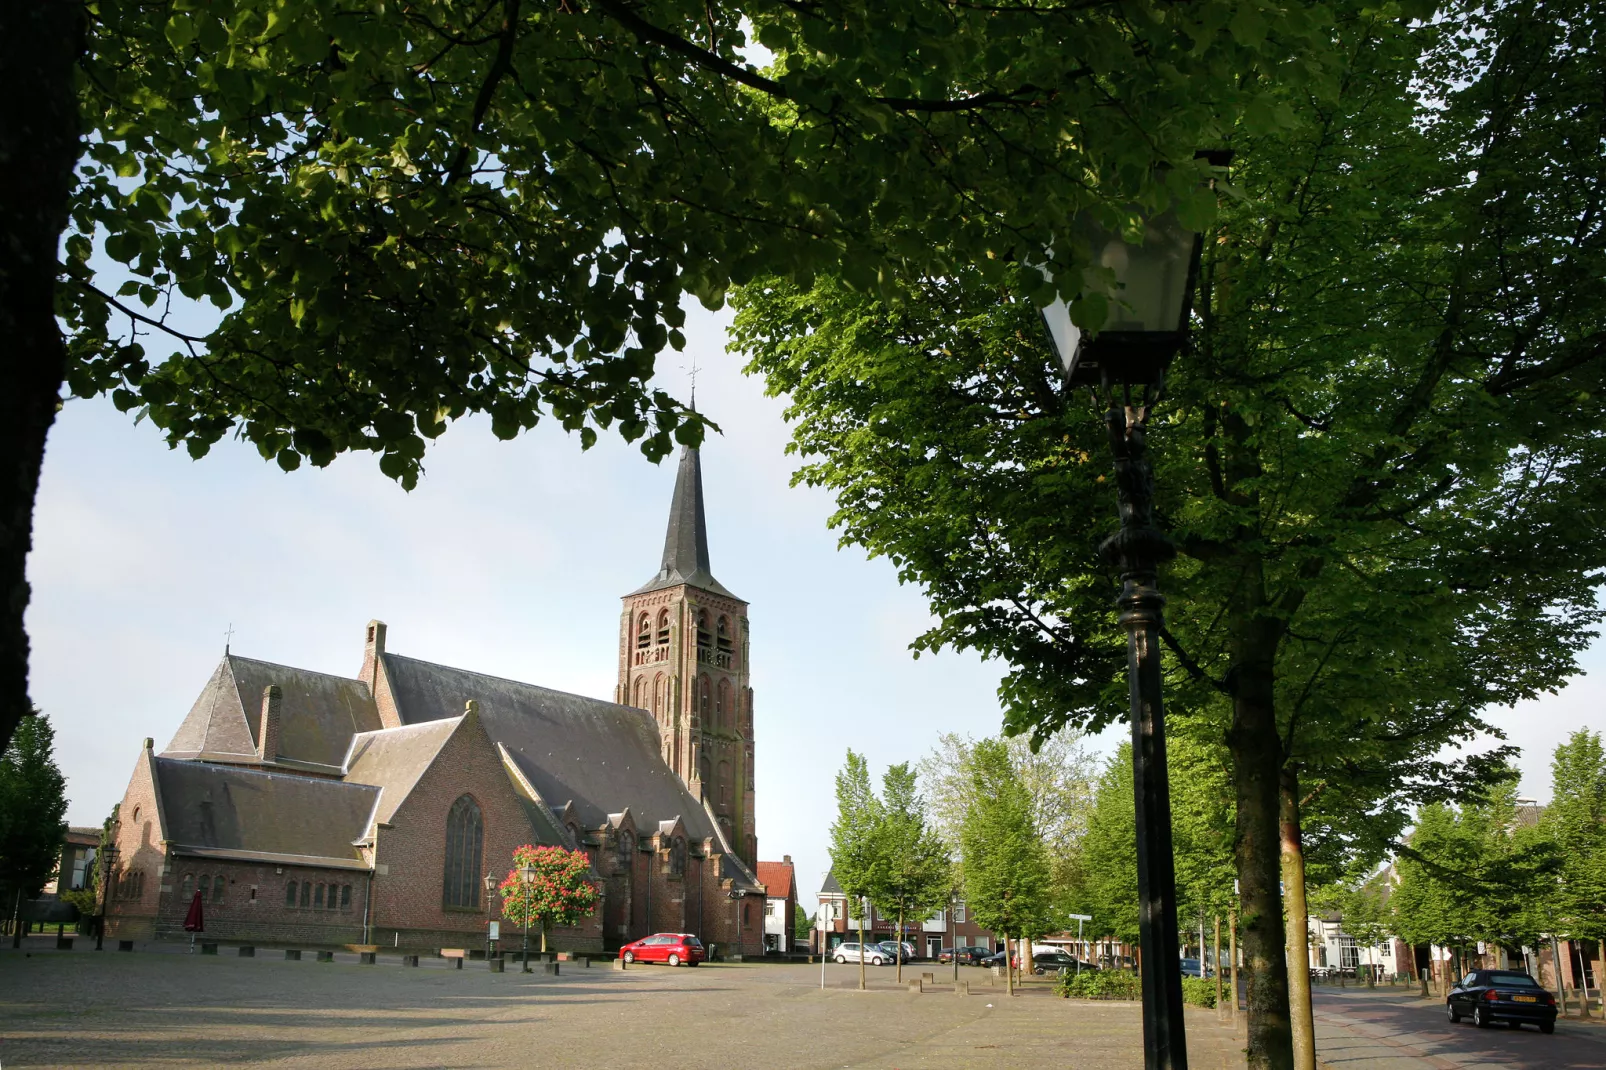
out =
[[[1148,443],[1172,709],[1233,757],[1251,1065],[1291,1059],[1283,802],[1376,852],[1489,766],[1441,749],[1556,688],[1598,620],[1603,29],[1580,2],[1378,8],[1343,24],[1338,92],[1290,88],[1290,125],[1229,138],[1195,352]],[[1124,713],[1124,635],[1103,423],[1036,286],[1029,263],[899,299],[756,283],[737,344],[792,395],[798,477],[838,495],[843,538],[925,588],[915,647],[1005,659],[1009,726],[1047,734]]]

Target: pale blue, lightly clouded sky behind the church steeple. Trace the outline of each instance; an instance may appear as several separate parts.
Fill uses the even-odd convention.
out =
[[[827,493],[790,487],[785,402],[740,374],[728,323],[689,312],[687,350],[663,355],[658,379],[687,397],[695,358],[699,408],[723,431],[702,448],[703,490],[713,574],[752,606],[760,856],[790,855],[813,909],[845,750],[878,776],[941,733],[997,733],[1002,668],[909,652],[930,623],[920,593],[890,562],[837,546]],[[374,455],[284,474],[225,442],[191,461],[104,400],[67,402],[45,456],[27,615],[67,819],[100,824],[122,798],[143,739],[167,744],[230,628],[236,654],[355,676],[377,617],[398,654],[612,697],[620,596],[657,572],[673,461],[607,434],[581,451],[549,423],[498,442],[467,419],[426,466],[408,493]],[[1548,798],[1550,753],[1571,731],[1606,728],[1606,644],[1584,667],[1559,694],[1492,718],[1524,747],[1527,795]]]

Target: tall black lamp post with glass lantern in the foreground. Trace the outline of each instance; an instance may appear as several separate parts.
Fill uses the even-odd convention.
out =
[[[1229,154],[1206,154],[1225,165]],[[1174,212],[1145,220],[1140,243],[1078,217],[1073,233],[1092,252],[1084,292],[1102,292],[1110,313],[1097,336],[1079,331],[1063,300],[1042,310],[1071,386],[1108,397],[1105,427],[1115,453],[1121,530],[1099,548],[1121,574],[1116,607],[1126,628],[1132,697],[1132,787],[1137,805],[1139,946],[1143,978],[1143,1065],[1187,1070],[1182,1027],[1182,962],[1177,953],[1177,888],[1171,856],[1171,790],[1166,718],[1160,688],[1160,631],[1166,599],[1160,566],[1176,556],[1155,527],[1155,479],[1145,443],[1148,413],[1171,358],[1187,344],[1201,236]],[[1134,403],[1132,390],[1139,398]]]

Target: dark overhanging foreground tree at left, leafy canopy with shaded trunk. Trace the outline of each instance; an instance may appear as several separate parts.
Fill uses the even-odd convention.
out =
[[[583,443],[617,427],[658,458],[702,431],[649,386],[683,294],[1002,263],[1097,201],[1198,210],[1153,164],[1238,114],[1278,122],[1274,87],[1331,77],[1330,18],[1286,0],[0,6],[18,357],[0,742],[27,710],[24,566],[63,382],[194,456],[225,434],[287,469],[369,450],[405,485],[469,413],[499,435],[543,415]]]

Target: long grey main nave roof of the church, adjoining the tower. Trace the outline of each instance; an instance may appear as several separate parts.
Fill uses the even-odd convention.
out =
[[[630,808],[636,829],[681,818],[692,839],[715,835],[702,803],[658,753],[652,715],[466,668],[384,654],[385,680],[403,721],[418,725],[479,702],[485,733],[552,810],[573,803],[585,829]]]

